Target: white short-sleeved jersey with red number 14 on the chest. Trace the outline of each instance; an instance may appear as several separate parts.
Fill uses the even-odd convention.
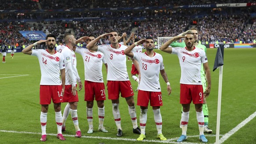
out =
[[[44,49],[32,49],[32,56],[37,56],[41,70],[40,85],[61,85],[59,70],[65,68],[64,57],[55,51],[51,55]]]

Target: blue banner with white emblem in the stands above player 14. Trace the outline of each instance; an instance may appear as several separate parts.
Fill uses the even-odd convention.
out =
[[[43,31],[19,31],[19,33],[29,40],[41,40],[46,38],[46,34]]]

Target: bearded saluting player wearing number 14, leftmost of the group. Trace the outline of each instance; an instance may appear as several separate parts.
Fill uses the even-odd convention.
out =
[[[46,42],[47,49],[32,50],[34,46]],[[41,114],[40,122],[42,129],[41,141],[46,141],[46,122],[48,105],[54,103],[55,109],[55,120],[57,123],[58,134],[57,138],[65,140],[62,136],[62,114],[61,114],[61,103],[63,102],[62,94],[65,91],[65,63],[64,57],[61,53],[54,50],[55,46],[55,35],[49,34],[46,40],[40,40],[35,42],[25,49],[22,53],[37,56],[41,70],[41,81],[40,81],[40,104]],[[61,72],[61,80],[59,78],[59,71]]]

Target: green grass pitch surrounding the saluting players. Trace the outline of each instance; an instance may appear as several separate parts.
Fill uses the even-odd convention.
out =
[[[206,134],[208,144],[215,143],[216,134],[216,115],[218,101],[218,83],[219,69],[212,72],[213,63],[217,49],[207,49],[208,63],[212,75],[212,88],[208,102],[209,109],[209,127],[213,130],[212,134]],[[181,135],[179,128],[180,110],[179,104],[179,79],[180,67],[176,55],[160,53],[164,59],[165,71],[168,75],[172,87],[172,94],[167,95],[166,84],[160,75],[163,106],[161,115],[163,119],[162,132],[169,143],[175,143],[177,137]],[[2,55],[0,55],[2,59]],[[77,69],[81,79],[84,79],[84,63],[82,57],[77,54]],[[223,67],[223,88],[222,105],[220,120],[220,138],[235,128],[239,123],[256,112],[256,49],[224,49],[224,67]],[[127,61],[127,69],[130,77],[132,62]],[[106,85],[106,70],[102,68],[103,77]],[[28,76],[21,76],[26,75]],[[39,144],[40,142],[40,104],[39,104],[39,84],[40,67],[36,56],[29,56],[22,53],[15,53],[14,59],[11,59],[10,53],[6,56],[6,63],[0,63],[0,144]],[[16,76],[16,77],[15,77]],[[17,77],[18,76],[18,77]],[[8,78],[7,78],[8,77]],[[130,77],[132,86],[137,87],[136,82]],[[135,104],[137,103],[137,91],[135,93]],[[88,123],[86,119],[86,102],[84,102],[84,88],[78,92],[78,120],[82,132],[81,138],[69,135],[75,134],[75,128],[71,116],[66,122],[65,141],[56,138],[57,126],[55,123],[55,112],[53,104],[49,105],[47,121],[47,144],[137,144],[150,143],[156,144],[159,139],[156,138],[157,130],[154,123],[152,108],[149,106],[146,139],[154,140],[137,142],[139,137],[132,133],[132,122],[128,113],[128,105],[124,98],[120,98],[121,126],[123,129],[123,139],[116,137],[117,128],[113,119],[112,105],[110,100],[105,101],[105,120],[104,126],[109,133],[98,132],[98,109],[97,105],[93,108],[94,133],[88,134]],[[62,104],[62,112],[66,103]],[[139,106],[136,106],[137,119],[139,124]],[[236,133],[231,135],[223,144],[254,144],[256,119],[252,119],[245,124]],[[15,131],[15,132],[10,132]],[[20,133],[18,133],[20,132]],[[53,133],[54,135],[49,135]],[[187,130],[187,143],[201,143],[199,141],[199,130],[196,120],[194,105],[191,104],[190,119]],[[190,137],[189,137],[190,136]],[[107,138],[102,138],[107,137]],[[125,140],[127,138],[128,140]],[[131,139],[134,139],[132,141]]]

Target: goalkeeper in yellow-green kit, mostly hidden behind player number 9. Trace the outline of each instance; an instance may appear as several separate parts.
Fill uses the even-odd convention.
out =
[[[196,28],[191,28],[187,32],[192,32],[194,34],[194,39],[195,39],[194,46],[198,49],[203,49],[206,53],[206,47],[204,45],[201,45],[201,44],[198,43],[198,31],[197,31],[197,29]],[[187,32],[183,32],[179,35],[184,36],[184,35],[186,35]],[[172,46],[172,47],[185,47],[186,44],[185,44],[185,42],[172,42],[170,46]],[[205,89],[206,89],[206,79],[205,79],[205,70],[203,68],[203,65],[201,65],[201,82],[202,82],[202,85],[203,85],[203,90],[205,91]],[[182,112],[182,110],[181,110],[181,112]],[[212,133],[212,130],[210,130],[209,127],[208,127],[208,108],[207,108],[207,103],[206,103],[205,96],[204,96],[204,104],[203,104],[203,113],[204,113],[204,116],[205,116],[204,132]],[[181,127],[181,123],[180,123],[180,127]]]

